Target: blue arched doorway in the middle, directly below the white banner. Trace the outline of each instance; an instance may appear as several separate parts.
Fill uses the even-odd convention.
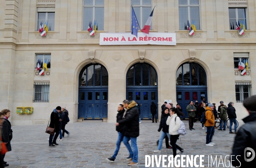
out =
[[[126,99],[140,105],[142,120],[151,119],[151,102],[158,102],[157,72],[151,65],[137,63],[129,68],[126,75]]]

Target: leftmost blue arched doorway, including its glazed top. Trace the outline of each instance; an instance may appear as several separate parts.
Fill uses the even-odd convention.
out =
[[[108,71],[100,64],[89,64],[79,74],[78,118],[108,118]]]

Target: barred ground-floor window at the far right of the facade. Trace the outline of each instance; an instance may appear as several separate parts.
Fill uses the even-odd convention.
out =
[[[236,102],[243,102],[251,96],[252,85],[250,82],[236,82]]]

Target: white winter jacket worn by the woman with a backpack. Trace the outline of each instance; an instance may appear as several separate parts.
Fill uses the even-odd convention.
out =
[[[175,121],[176,118],[176,121]],[[180,117],[177,114],[173,114],[167,118],[166,124],[169,125],[169,134],[178,135],[178,129],[180,128]]]

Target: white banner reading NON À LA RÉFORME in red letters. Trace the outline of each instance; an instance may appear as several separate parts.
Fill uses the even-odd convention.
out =
[[[176,33],[100,33],[99,45],[176,45]]]

